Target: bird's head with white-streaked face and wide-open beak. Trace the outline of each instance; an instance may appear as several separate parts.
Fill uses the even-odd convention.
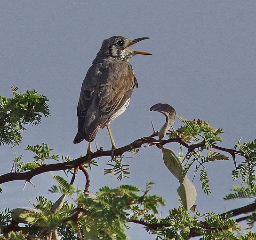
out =
[[[104,56],[107,54],[113,58],[118,58],[120,60],[129,61],[131,57],[136,54],[142,55],[152,55],[149,52],[135,51],[129,50],[128,47],[134,45],[144,39],[148,39],[149,37],[141,37],[136,38],[134,40],[130,40],[126,37],[115,36],[105,39],[102,43],[101,49],[98,52],[97,56]]]

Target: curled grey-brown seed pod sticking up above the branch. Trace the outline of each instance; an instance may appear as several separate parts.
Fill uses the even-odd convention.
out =
[[[155,104],[149,110],[163,113],[166,117],[166,122],[158,133],[158,139],[162,140],[164,138],[164,136],[166,135],[167,131],[169,130],[169,128],[172,127],[172,125],[174,124],[174,121],[176,118],[176,110],[173,106],[171,106],[167,103]],[[172,127],[172,129],[173,129],[173,127]],[[173,131],[174,131],[174,129],[173,129]]]

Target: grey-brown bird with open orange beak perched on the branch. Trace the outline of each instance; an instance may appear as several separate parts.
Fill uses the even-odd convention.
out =
[[[129,50],[128,47],[149,37],[130,40],[114,36],[105,39],[82,83],[77,105],[78,132],[73,143],[88,142],[89,163],[91,142],[99,128],[108,129],[112,151],[117,149],[109,123],[123,113],[138,82],[129,63],[134,55],[152,55],[149,52]]]

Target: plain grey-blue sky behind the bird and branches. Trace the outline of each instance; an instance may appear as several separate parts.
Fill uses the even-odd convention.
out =
[[[35,89],[50,99],[51,116],[36,127],[27,126],[23,142],[16,147],[0,146],[0,174],[10,172],[14,152],[28,162],[33,154],[27,145],[47,143],[55,154],[78,158],[86,154],[87,142],[73,144],[77,132],[76,107],[82,81],[105,38],[120,35],[135,39],[150,37],[130,49],[152,53],[130,60],[138,81],[128,109],[112,121],[117,146],[152,134],[165,122],[163,115],[150,112],[152,105],[168,103],[185,119],[202,119],[214,128],[224,129],[220,146],[232,148],[242,137],[256,138],[256,2],[254,0],[130,0],[130,1],[0,1],[0,96],[12,97],[11,86],[20,91]],[[176,119],[174,128],[181,127]],[[111,149],[107,129],[96,136],[98,146]],[[96,150],[95,143],[92,144]],[[177,143],[166,147],[179,152]],[[145,190],[155,182],[152,194],[167,201],[160,207],[163,216],[178,207],[178,180],[163,163],[156,147],[143,148],[139,155],[127,154],[130,176],[121,183],[103,175],[110,158],[97,159],[99,167],[89,172],[91,191],[108,185],[132,184]],[[243,159],[237,158],[237,163]],[[197,210],[201,213],[245,206],[250,200],[224,201],[232,185],[234,164],[216,161],[205,165],[212,194],[205,195],[199,174],[193,184],[197,189]],[[194,168],[188,173],[192,180]],[[55,172],[54,174],[63,174]],[[69,179],[70,180],[70,179]],[[36,188],[24,181],[1,185],[0,210],[5,207],[30,207],[28,199],[49,195],[56,182],[49,173],[32,179]],[[81,173],[74,183],[83,189]],[[131,240],[154,240],[140,225],[130,224]]]

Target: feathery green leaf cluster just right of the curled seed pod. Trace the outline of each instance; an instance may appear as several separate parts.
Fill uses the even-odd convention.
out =
[[[184,143],[191,143],[191,148],[187,150],[184,156],[184,146],[181,144],[180,158],[184,164],[182,171],[183,178],[187,174],[188,170],[192,167],[193,163],[198,163],[195,166],[195,174],[200,169],[200,181],[202,182],[202,188],[205,194],[211,193],[209,180],[207,178],[207,168],[205,163],[217,160],[228,160],[229,157],[213,152],[213,145],[222,142],[220,134],[224,131],[221,128],[213,128],[209,126],[208,122],[203,120],[186,120],[182,117],[178,117],[183,123],[183,127],[176,130],[176,135],[180,137]],[[175,138],[176,135],[171,133],[169,139]]]

